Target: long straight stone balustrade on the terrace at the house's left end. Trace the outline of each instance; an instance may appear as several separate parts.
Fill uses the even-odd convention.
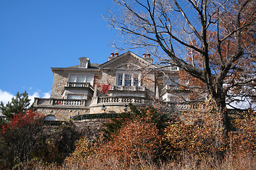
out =
[[[85,99],[35,98],[33,107],[46,108],[85,108]]]

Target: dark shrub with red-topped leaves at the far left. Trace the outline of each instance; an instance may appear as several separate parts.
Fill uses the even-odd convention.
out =
[[[31,110],[14,114],[11,122],[2,125],[0,135],[2,169],[28,161],[41,132],[43,116]]]

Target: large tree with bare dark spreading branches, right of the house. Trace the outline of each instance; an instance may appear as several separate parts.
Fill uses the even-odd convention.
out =
[[[255,97],[255,0],[114,2],[118,7],[110,10],[110,25],[131,48],[150,47],[160,52],[159,64],[179,67],[202,81],[217,103],[226,134],[227,101]],[[188,62],[191,54],[197,57]]]

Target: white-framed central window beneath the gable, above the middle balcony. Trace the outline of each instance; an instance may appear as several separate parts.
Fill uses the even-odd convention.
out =
[[[117,74],[117,86],[140,86],[136,74]]]

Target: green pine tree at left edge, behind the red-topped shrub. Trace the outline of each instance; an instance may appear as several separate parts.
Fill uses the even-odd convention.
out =
[[[23,94],[17,93],[14,98],[11,98],[11,102],[6,103],[6,106],[1,102],[0,109],[6,115],[6,119],[10,120],[14,118],[14,114],[24,113],[30,105],[29,101],[31,100],[28,99],[28,93],[24,91]]]

